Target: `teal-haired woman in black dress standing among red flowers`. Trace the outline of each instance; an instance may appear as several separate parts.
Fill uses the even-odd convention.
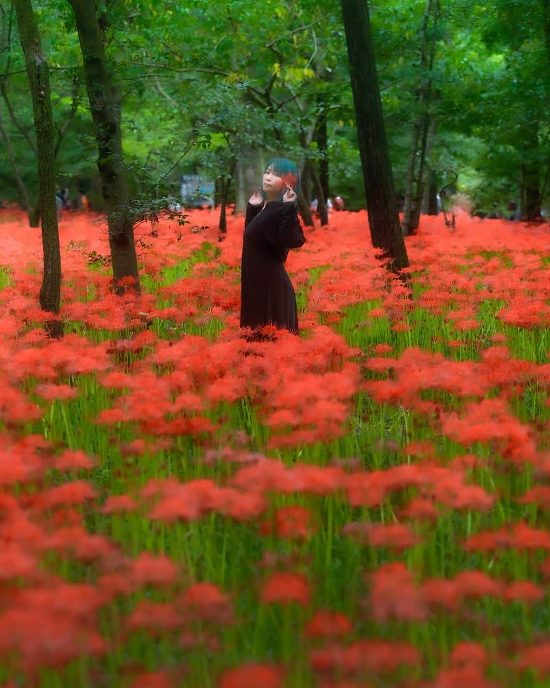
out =
[[[285,266],[290,248],[305,242],[296,214],[298,169],[285,158],[265,166],[261,189],[246,206],[241,261],[241,327],[276,325],[298,334],[296,294]]]

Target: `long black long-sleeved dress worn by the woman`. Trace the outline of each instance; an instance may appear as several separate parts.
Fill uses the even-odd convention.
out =
[[[283,263],[305,237],[294,203],[246,207],[241,261],[241,327],[276,325],[298,334],[296,294]]]

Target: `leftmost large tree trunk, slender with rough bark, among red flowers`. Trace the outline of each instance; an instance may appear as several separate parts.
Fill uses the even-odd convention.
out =
[[[61,292],[61,252],[57,227],[54,169],[54,125],[50,101],[50,74],[42,52],[40,35],[30,0],[15,0],[19,39],[29,79],[36,131],[39,198],[42,215],[44,275],[40,289],[42,310],[58,315]],[[63,336],[61,319],[46,323],[50,336]]]

